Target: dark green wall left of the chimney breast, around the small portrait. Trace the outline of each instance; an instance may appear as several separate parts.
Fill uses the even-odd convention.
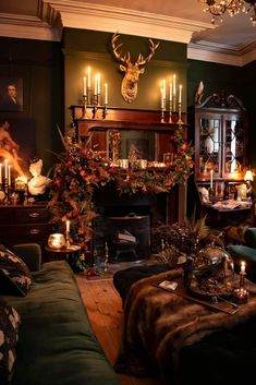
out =
[[[47,172],[61,147],[56,124],[63,128],[63,57],[59,43],[0,38],[0,76],[23,80],[23,111],[0,111],[0,119],[33,120],[35,154]],[[24,130],[25,131],[25,130]],[[50,151],[50,152],[49,152]]]

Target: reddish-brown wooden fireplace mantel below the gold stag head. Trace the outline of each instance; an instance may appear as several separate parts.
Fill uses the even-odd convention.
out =
[[[155,160],[162,161],[164,153],[175,153],[175,144],[173,133],[178,128],[179,115],[173,112],[171,122],[169,111],[164,111],[164,122],[161,122],[161,111],[159,110],[139,110],[123,108],[103,108],[103,107],[86,107],[86,116],[84,106],[72,105],[70,107],[72,120],[76,128],[77,140],[86,142],[87,137],[93,133],[89,140],[90,147],[109,154],[108,151],[108,132],[109,130],[119,130],[121,135],[131,137],[133,132],[136,135],[153,133]],[[182,113],[182,121],[186,122],[186,115]],[[183,139],[186,140],[187,125],[184,123]],[[184,218],[185,214],[185,187],[179,185],[168,195],[168,205],[166,206],[167,221],[173,222]]]

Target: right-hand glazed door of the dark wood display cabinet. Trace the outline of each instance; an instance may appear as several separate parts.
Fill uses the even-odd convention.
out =
[[[244,129],[243,122],[237,119],[225,120],[223,141],[223,159],[225,176],[237,177],[244,165]]]

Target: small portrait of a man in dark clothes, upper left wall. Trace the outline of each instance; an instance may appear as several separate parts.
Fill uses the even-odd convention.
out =
[[[23,80],[0,77],[0,111],[23,111]]]

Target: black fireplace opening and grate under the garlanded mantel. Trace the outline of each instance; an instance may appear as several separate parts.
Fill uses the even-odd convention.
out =
[[[98,216],[94,220],[94,250],[103,255],[107,242],[111,262],[149,257],[154,243],[153,227],[175,221],[172,218],[175,218],[178,206],[173,194],[175,196],[175,189],[171,194],[121,196],[110,188],[96,191],[94,203]],[[173,205],[170,205],[170,202],[173,202]],[[133,242],[119,242],[120,232],[130,233]]]

